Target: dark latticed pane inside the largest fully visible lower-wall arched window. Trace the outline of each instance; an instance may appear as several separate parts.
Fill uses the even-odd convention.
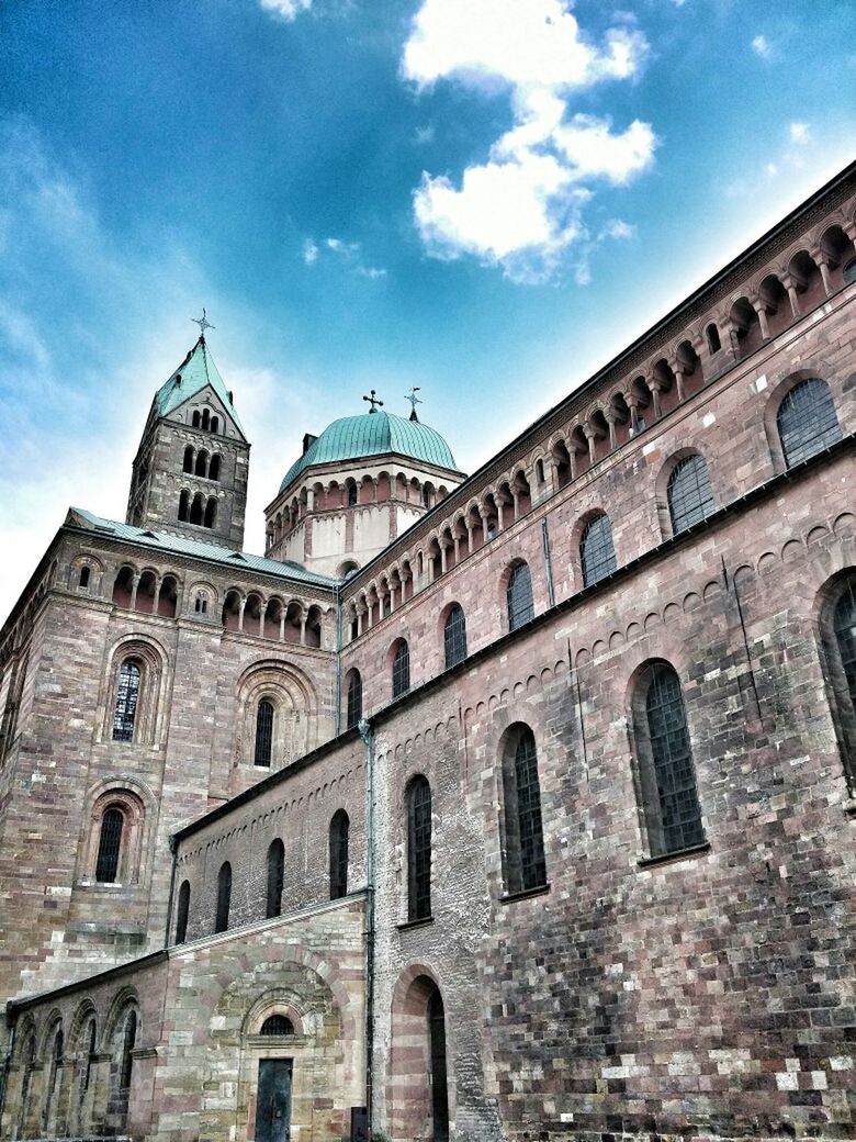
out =
[[[646,713],[660,802],[663,852],[704,841],[680,682],[670,666],[654,668]]]

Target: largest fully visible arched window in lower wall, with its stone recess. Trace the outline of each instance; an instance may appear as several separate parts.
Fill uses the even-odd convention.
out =
[[[641,794],[653,855],[704,842],[680,681],[668,662],[641,674],[635,708]]]

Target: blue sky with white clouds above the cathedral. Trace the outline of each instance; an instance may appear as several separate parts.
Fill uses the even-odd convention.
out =
[[[0,77],[6,613],[203,305],[250,549],[369,387],[477,467],[850,161],[856,8],[7,0]]]

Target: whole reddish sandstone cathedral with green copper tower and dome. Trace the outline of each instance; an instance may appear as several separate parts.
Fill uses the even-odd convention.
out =
[[[0,630],[2,1139],[856,1136],[855,239],[469,476],[372,393],[264,554],[203,317]]]

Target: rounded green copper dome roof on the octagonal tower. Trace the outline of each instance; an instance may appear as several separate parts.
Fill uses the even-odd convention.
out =
[[[458,472],[452,451],[436,428],[429,428],[419,420],[396,417],[391,412],[364,412],[362,416],[333,420],[300,459],[291,465],[280,484],[280,491],[312,465],[336,464],[339,460],[356,460],[388,452]]]

